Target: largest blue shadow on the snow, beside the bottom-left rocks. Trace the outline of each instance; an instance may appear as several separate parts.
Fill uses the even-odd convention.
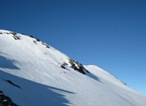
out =
[[[14,86],[11,81],[20,88]],[[43,85],[23,79],[0,70],[0,90],[6,93],[19,106],[68,106],[70,101],[65,98],[73,92]]]

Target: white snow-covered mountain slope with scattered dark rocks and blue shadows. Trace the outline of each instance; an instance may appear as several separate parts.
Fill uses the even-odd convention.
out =
[[[146,105],[145,96],[103,69],[83,66],[32,36],[0,30],[0,105],[4,100],[12,106]]]

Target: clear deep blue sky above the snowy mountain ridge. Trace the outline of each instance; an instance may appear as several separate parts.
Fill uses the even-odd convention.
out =
[[[33,35],[146,95],[146,0],[0,0],[0,29]]]

